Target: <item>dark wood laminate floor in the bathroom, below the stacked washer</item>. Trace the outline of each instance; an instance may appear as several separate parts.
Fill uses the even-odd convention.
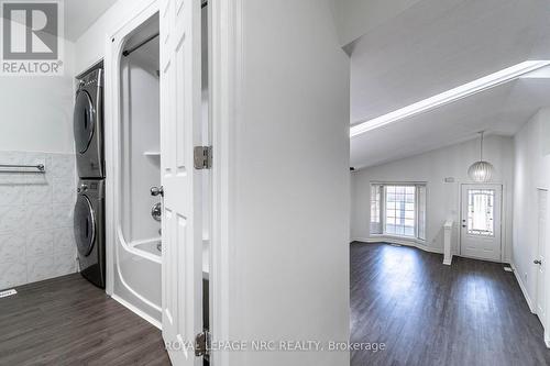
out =
[[[0,365],[169,365],[161,332],[80,275],[0,299]]]

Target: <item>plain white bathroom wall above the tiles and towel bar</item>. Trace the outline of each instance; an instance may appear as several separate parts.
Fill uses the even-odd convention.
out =
[[[64,76],[1,78],[0,151],[74,153],[73,55],[66,41]]]

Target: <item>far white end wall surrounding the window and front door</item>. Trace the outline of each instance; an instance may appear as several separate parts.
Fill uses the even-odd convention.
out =
[[[480,140],[472,140],[453,146],[436,149],[397,162],[370,167],[352,174],[351,237],[370,241],[371,189],[372,181],[418,181],[427,182],[427,240],[426,248],[442,252],[443,224],[454,221],[452,245],[459,248],[458,224],[460,220],[460,185],[472,182],[468,168],[480,158]],[[512,207],[513,207],[513,140],[504,136],[487,136],[484,158],[495,166],[494,182],[504,185],[503,258],[512,258]],[[447,184],[444,178],[454,182]]]

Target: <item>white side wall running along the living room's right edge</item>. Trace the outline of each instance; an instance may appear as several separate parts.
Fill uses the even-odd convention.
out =
[[[536,300],[538,249],[537,189],[550,188],[550,109],[537,113],[514,137],[513,263],[528,301]],[[548,231],[550,232],[550,231]]]

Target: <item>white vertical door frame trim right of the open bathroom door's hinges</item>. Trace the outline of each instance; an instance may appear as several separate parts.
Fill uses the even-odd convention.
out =
[[[231,170],[237,143],[233,131],[241,112],[244,79],[243,5],[244,0],[216,0],[209,12],[210,126],[213,145],[211,170],[210,232],[210,334],[212,342],[227,342],[230,335],[230,293],[235,293],[238,278],[233,208],[237,177]],[[217,351],[210,355],[213,366],[229,365],[235,353]]]

